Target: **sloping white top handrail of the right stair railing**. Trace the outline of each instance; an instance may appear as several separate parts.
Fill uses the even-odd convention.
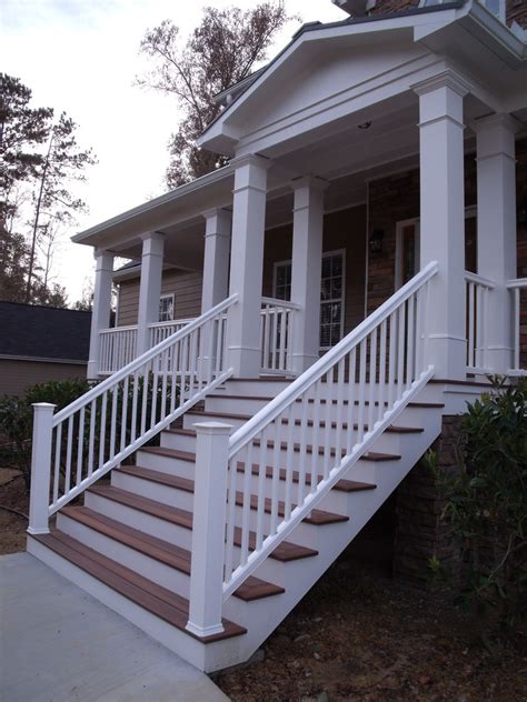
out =
[[[428,263],[417,275],[384,302],[375,312],[367,317],[351,333],[341,339],[335,347],[316,361],[305,373],[292,381],[282,392],[266,404],[248,422],[242,424],[229,440],[229,458],[261,431],[265,424],[272,420],[291,402],[305,392],[316,380],[327,373],[332,365],[354,345],[360,343],[384,319],[389,317],[399,304],[407,300],[418,288],[430,280],[438,270],[436,261]]]

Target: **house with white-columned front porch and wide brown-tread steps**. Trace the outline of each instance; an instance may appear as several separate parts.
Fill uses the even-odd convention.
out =
[[[339,4],[217,97],[228,166],[76,237],[105,380],[36,408],[28,549],[206,671],[524,373],[525,3]]]

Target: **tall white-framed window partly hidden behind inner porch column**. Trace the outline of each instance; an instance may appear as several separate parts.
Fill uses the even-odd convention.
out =
[[[320,348],[329,349],[342,338],[345,252],[330,251],[322,255],[320,281]],[[291,299],[291,261],[275,263],[275,298]]]

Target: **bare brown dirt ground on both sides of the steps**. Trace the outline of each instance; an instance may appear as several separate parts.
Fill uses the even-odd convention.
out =
[[[23,478],[4,469],[0,505],[29,510]],[[0,509],[0,554],[22,551],[26,529],[26,519]],[[215,679],[232,702],[527,702],[527,645],[488,650],[474,620],[448,600],[349,556],[320,579],[262,653],[262,661]]]

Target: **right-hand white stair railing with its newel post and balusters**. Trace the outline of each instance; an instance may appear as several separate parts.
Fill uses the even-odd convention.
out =
[[[195,525],[207,518],[192,534],[190,632],[221,631],[227,598],[432,377],[425,347],[437,270],[429,263],[230,439],[222,424],[196,425]]]

